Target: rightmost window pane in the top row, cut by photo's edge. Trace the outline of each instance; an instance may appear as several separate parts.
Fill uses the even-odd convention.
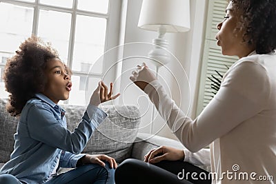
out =
[[[78,9],[91,12],[108,12],[108,0],[79,0]]]

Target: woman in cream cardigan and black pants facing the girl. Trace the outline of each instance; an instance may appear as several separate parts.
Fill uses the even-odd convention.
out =
[[[239,60],[226,72],[219,92],[197,119],[192,120],[179,110],[146,64],[132,72],[130,79],[148,94],[172,132],[189,150],[159,147],[149,152],[145,161],[209,162],[213,183],[274,183],[276,1],[230,1],[226,17],[217,29],[217,45],[222,54],[235,55]],[[202,150],[209,144],[210,152]],[[186,170],[185,175],[182,169],[178,171],[179,179],[192,174]],[[193,174],[195,183],[200,176],[204,174]],[[177,175],[134,160],[122,163],[115,174],[117,184],[128,183],[130,178],[137,178],[131,183],[184,183],[177,180]]]

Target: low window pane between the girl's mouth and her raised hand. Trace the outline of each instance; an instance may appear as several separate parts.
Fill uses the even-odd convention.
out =
[[[92,92],[97,88],[98,82],[101,79],[92,78],[86,79],[86,76],[72,76],[72,90],[70,92],[69,104],[73,105],[88,105]],[[84,82],[83,82],[84,81]],[[85,90],[88,89],[88,90]]]

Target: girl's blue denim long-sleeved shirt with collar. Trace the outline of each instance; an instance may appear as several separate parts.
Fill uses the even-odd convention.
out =
[[[81,122],[67,130],[65,110],[43,94],[35,94],[24,106],[14,151],[0,174],[12,174],[22,183],[45,183],[59,161],[59,167],[76,167],[80,154],[106,112],[88,105]]]

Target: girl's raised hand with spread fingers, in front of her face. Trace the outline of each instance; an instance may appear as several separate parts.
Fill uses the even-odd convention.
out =
[[[115,96],[112,96],[112,90],[113,83],[110,83],[110,92],[108,93],[108,87],[105,85],[105,83],[103,83],[103,81],[99,81],[97,89],[93,92],[90,98],[90,104],[99,106],[100,103],[117,99],[120,94],[118,93]]]

